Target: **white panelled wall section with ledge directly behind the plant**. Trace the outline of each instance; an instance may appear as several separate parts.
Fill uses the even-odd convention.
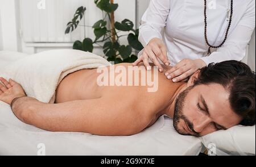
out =
[[[87,0],[44,0],[45,9],[38,10],[41,0],[19,0],[22,32],[22,50],[24,53],[36,53],[48,49],[72,48],[73,41],[84,39],[84,28],[78,27],[72,34],[64,35],[66,24],[73,18],[77,7],[85,6],[85,25],[92,26],[102,19],[102,12],[94,1]],[[135,23],[135,0],[115,0],[119,7],[115,11],[115,20],[121,22],[130,19]],[[31,24],[32,22],[32,24]],[[35,24],[36,23],[36,24]],[[84,24],[83,20],[80,22]],[[94,39],[92,28],[86,28],[86,37]],[[125,32],[124,34],[127,34]],[[120,33],[119,35],[122,35]],[[122,40],[123,39],[123,40]],[[125,38],[122,44],[127,44]],[[94,53],[103,55],[102,49],[95,45]]]

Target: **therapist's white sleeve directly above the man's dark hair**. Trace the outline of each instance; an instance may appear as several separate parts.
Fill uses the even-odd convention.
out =
[[[250,42],[251,35],[255,28],[255,1],[251,1],[248,5],[246,13],[234,29],[228,39],[208,57],[201,58],[208,65],[211,62],[222,62],[228,60],[241,61],[246,55],[246,47]]]

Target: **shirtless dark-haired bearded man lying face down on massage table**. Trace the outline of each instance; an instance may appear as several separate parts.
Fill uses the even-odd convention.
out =
[[[56,89],[55,103],[27,97],[22,85],[0,78],[0,101],[11,105],[22,122],[55,132],[134,135],[164,114],[174,119],[173,126],[181,135],[204,136],[238,124],[255,124],[255,73],[242,62],[209,64],[188,82],[179,83],[151,68],[150,77],[158,84],[154,92],[148,91],[150,86],[128,80],[131,70],[142,80],[149,77],[142,74],[146,70],[142,64],[139,67],[142,68],[131,64],[107,67],[109,74],[105,76],[114,81],[121,77],[110,74],[113,70],[126,70],[127,80],[122,85],[99,85],[99,69],[68,74]]]

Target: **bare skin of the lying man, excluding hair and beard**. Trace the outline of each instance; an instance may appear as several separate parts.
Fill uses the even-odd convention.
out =
[[[117,66],[127,69],[132,65]],[[170,68],[164,66],[164,72]],[[151,74],[153,69],[151,68]],[[174,118],[177,97],[193,85],[199,72],[193,74],[188,82],[177,83],[167,80],[164,73],[159,72],[158,91],[150,93],[147,91],[148,86],[98,86],[96,81],[100,74],[97,69],[79,70],[61,81],[56,89],[54,104],[26,97],[19,83],[0,78],[3,82],[0,83],[0,101],[10,105],[15,97],[25,96],[15,101],[12,107],[14,114],[24,123],[43,130],[88,132],[108,136],[134,135],[150,127],[163,114]],[[208,99],[210,114],[197,108],[199,95]],[[242,118],[230,108],[228,95],[229,93],[217,84],[196,86],[184,100],[185,110],[180,111],[187,116],[192,126],[188,127],[187,122],[180,120],[175,129],[184,135],[197,133],[203,136],[224,129],[222,127],[236,126]]]

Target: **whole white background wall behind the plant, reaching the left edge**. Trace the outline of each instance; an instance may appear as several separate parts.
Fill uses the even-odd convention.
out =
[[[90,1],[87,0],[43,0],[46,2],[46,9],[38,10],[37,4],[41,2],[41,0],[1,0],[0,1],[0,49],[9,50],[9,51],[19,51],[24,53],[36,53],[40,51],[44,51],[47,49],[60,49],[60,48],[72,48],[73,41],[81,40],[84,37],[84,32],[82,28],[77,28],[75,32],[72,32],[72,35],[65,35],[65,24],[69,20],[73,18],[73,14],[77,7],[84,5],[87,7],[87,20],[86,25],[92,26],[96,20],[97,15],[101,15],[100,13],[96,13],[97,11],[94,9],[95,5],[92,0],[92,5],[88,5]],[[121,20],[127,18],[136,23],[136,0],[115,0],[118,3],[119,7],[118,10],[115,11],[115,19],[119,22]],[[139,0],[140,1],[140,0]],[[62,2],[72,2],[75,6],[68,5],[67,3]],[[58,5],[58,4],[62,5]],[[53,5],[52,5],[53,4]],[[64,4],[64,5],[63,5]],[[57,5],[57,6],[56,6]],[[61,10],[61,7],[64,6],[64,10],[60,13],[56,13],[57,10]],[[55,7],[53,9],[53,7]],[[63,8],[62,8],[63,9]],[[34,14],[31,13],[33,11],[40,11],[35,12]],[[54,11],[55,13],[47,11]],[[24,15],[24,13],[26,15]],[[64,14],[63,14],[64,13]],[[68,13],[68,14],[65,14]],[[48,15],[44,17],[44,15]],[[42,40],[43,37],[39,37],[38,40],[31,40],[29,42],[29,38],[31,37],[33,31],[37,31],[39,34],[42,34],[40,30],[39,24],[44,25],[44,22],[49,21],[53,17],[54,19],[46,24],[41,28],[43,31],[48,29],[54,29],[54,34],[63,34],[63,39],[61,37],[57,37],[57,40],[51,40],[50,43],[47,41]],[[63,18],[63,19],[61,19]],[[101,18],[100,18],[101,19]],[[41,22],[39,21],[41,20]],[[32,24],[31,24],[32,23]],[[51,26],[51,23],[54,23],[55,26]],[[24,26],[26,24],[26,26]],[[60,26],[63,24],[64,26]],[[37,27],[37,28],[36,28]],[[57,27],[57,28],[56,28]],[[34,28],[34,30],[33,30]],[[1,33],[2,32],[2,33]],[[49,32],[49,31],[48,31]],[[47,35],[46,32],[45,34]],[[80,32],[80,33],[79,33]],[[51,33],[51,32],[50,32]],[[43,35],[43,36],[46,36]],[[122,34],[121,34],[122,35]],[[35,39],[38,35],[32,35]],[[70,38],[72,36],[72,38]],[[88,28],[86,30],[86,37],[94,38],[92,28]],[[125,37],[123,37],[123,41]],[[126,43],[127,44],[127,41]],[[102,53],[100,48],[96,46],[96,53]]]

